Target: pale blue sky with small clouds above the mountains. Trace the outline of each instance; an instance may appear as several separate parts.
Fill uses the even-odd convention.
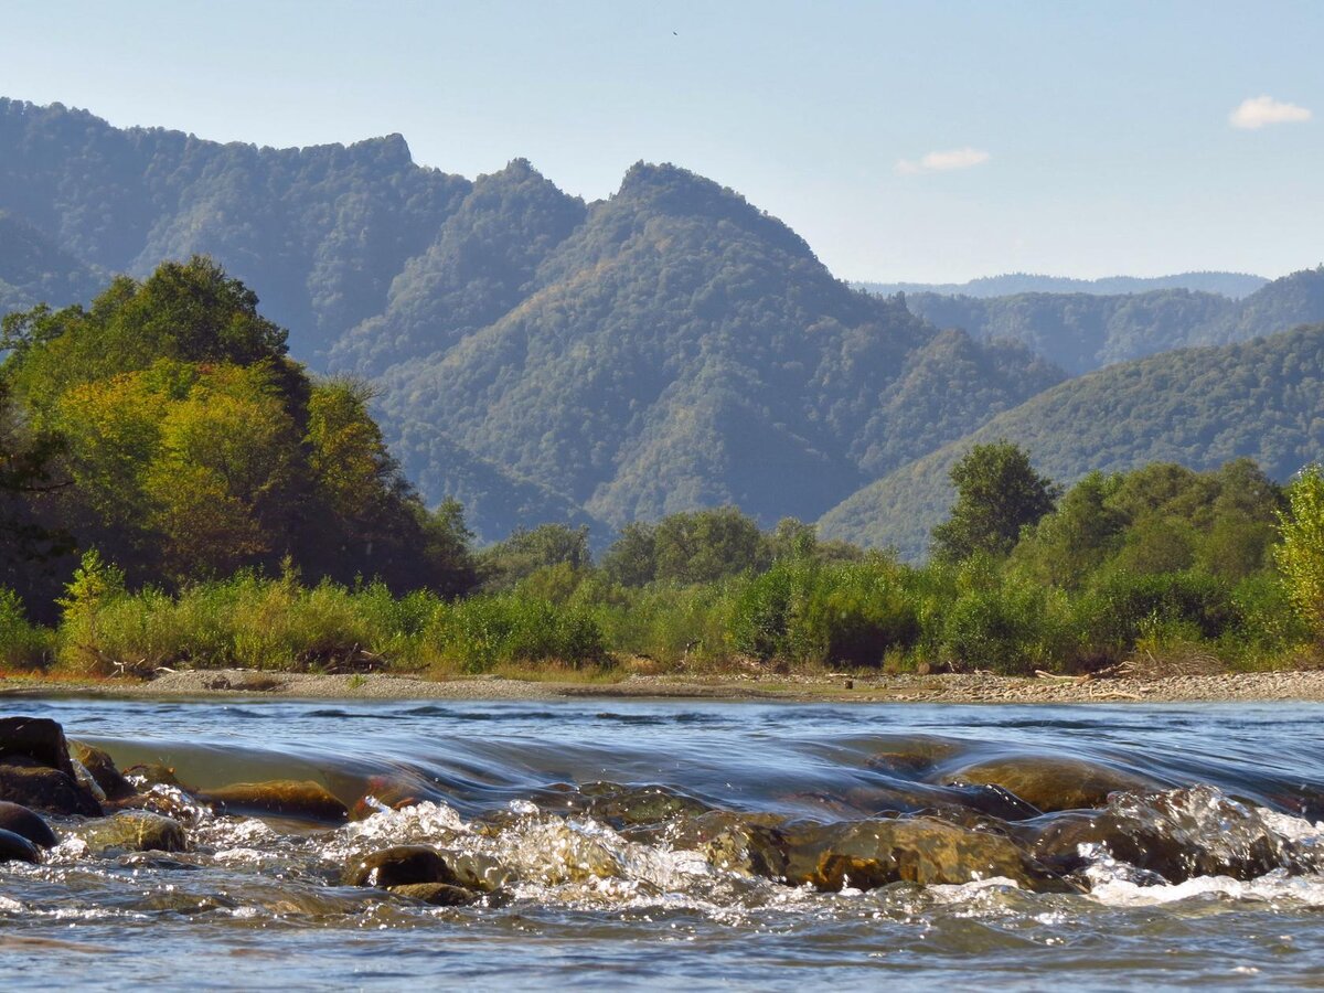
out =
[[[1321,3],[17,0],[3,30],[0,95],[117,126],[399,131],[588,199],[675,162],[846,278],[1324,261]]]

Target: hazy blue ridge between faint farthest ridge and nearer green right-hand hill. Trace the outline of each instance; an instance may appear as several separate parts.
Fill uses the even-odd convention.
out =
[[[1192,290],[989,299],[912,293],[904,299],[912,312],[939,327],[1022,342],[1078,375],[1172,348],[1239,342],[1324,320],[1324,267],[1264,283],[1242,301]]]

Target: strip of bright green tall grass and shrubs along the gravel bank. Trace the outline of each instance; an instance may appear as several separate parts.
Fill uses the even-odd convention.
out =
[[[1063,589],[994,559],[902,565],[887,556],[809,557],[714,583],[628,588],[601,571],[551,567],[512,589],[446,601],[380,583],[303,585],[241,572],[177,593],[126,589],[90,553],[54,632],[0,589],[0,663],[52,658],[82,674],[160,667],[510,674],[651,659],[657,669],[733,666],[1079,671],[1124,659],[1290,665],[1309,632],[1271,573],[1102,571]]]

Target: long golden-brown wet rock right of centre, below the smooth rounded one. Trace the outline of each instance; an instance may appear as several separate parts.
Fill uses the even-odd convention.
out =
[[[969,883],[1002,876],[1027,890],[1068,888],[1001,834],[931,817],[813,825],[789,833],[786,882],[817,890]]]

